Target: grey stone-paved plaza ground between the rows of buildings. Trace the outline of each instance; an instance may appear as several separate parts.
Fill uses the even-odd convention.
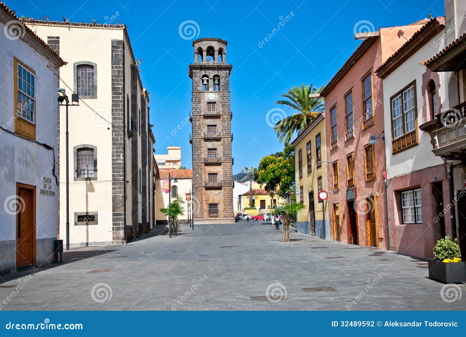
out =
[[[169,239],[157,226],[125,246],[75,248],[62,264],[2,276],[0,308],[464,309],[452,294],[466,285],[442,290],[427,278],[427,263],[409,256],[295,231],[280,242],[281,231],[255,221],[182,229]]]

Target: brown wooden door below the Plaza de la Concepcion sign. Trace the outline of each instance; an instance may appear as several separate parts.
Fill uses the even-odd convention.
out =
[[[16,214],[16,266],[34,265],[34,190],[18,187]]]

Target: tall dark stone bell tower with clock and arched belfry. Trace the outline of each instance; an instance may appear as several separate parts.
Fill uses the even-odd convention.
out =
[[[192,186],[194,220],[234,223],[230,74],[226,44],[217,38],[194,40],[192,79]]]

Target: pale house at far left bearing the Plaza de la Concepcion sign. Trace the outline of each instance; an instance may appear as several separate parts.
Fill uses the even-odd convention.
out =
[[[1,2],[0,31],[2,275],[55,259],[55,72],[65,62]]]

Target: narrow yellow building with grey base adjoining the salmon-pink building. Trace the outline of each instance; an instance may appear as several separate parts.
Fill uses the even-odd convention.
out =
[[[306,205],[297,216],[298,232],[329,239],[328,201],[319,199],[320,191],[328,191],[324,119],[320,114],[291,145],[295,147],[296,201]]]

